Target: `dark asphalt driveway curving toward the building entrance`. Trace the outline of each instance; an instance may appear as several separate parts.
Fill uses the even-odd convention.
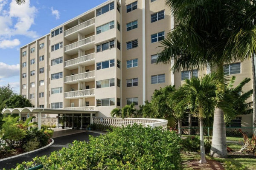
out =
[[[11,168],[15,168],[17,163],[22,163],[23,161],[32,161],[32,158],[36,156],[43,156],[43,155],[49,155],[55,150],[60,150],[62,147],[68,147],[69,143],[72,143],[74,140],[78,141],[89,141],[89,135],[92,136],[99,136],[99,133],[93,133],[93,132],[81,132],[81,133],[76,133],[72,135],[67,135],[67,136],[61,136],[61,137],[56,137],[54,139],[54,144],[52,146],[46,148],[45,150],[41,150],[35,153],[30,153],[24,156],[19,156],[14,159],[9,159],[6,161],[1,161],[0,162],[0,170],[3,170],[3,168],[6,168],[7,170]]]

